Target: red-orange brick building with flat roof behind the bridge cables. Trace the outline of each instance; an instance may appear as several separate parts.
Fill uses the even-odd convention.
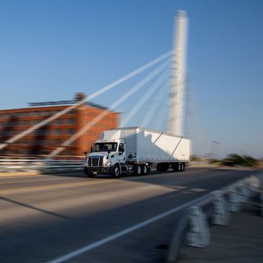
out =
[[[76,100],[81,100],[82,93],[78,93]],[[76,103],[76,100],[60,102],[39,102],[29,103],[28,108],[23,109],[4,109],[0,110],[0,142],[4,142],[14,135],[27,130],[39,121],[43,121],[49,116],[60,112]],[[53,149],[60,146],[65,140],[69,139],[74,133],[80,130],[86,123],[92,121],[104,110],[108,111],[95,126],[81,135],[75,142],[62,151],[62,155],[83,156],[84,151],[89,151],[95,140],[100,139],[103,130],[109,130],[119,126],[119,113],[111,112],[93,102],[86,102],[71,112],[60,116],[51,121],[46,126],[34,130],[29,135],[8,145],[0,151],[0,155],[46,155]]]

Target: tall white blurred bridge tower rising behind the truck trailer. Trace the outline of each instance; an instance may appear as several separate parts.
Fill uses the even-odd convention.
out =
[[[173,43],[173,70],[170,83],[170,103],[168,109],[168,133],[184,135],[184,90],[186,76],[187,13],[179,11],[175,17]]]

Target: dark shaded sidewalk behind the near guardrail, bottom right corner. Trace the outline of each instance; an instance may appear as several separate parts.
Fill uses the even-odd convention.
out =
[[[184,247],[177,262],[263,262],[263,217],[257,205],[231,213],[229,226],[210,227],[208,248]]]

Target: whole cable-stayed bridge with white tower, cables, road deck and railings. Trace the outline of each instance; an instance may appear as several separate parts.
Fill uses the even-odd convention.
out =
[[[2,142],[0,150],[149,69],[151,72],[112,102],[109,110],[116,110],[140,91],[140,100],[123,118],[121,126],[127,126],[152,100],[138,125],[147,127],[149,121],[156,119],[157,130],[186,135],[186,13],[180,11],[175,21],[173,50]],[[161,110],[159,103],[165,105]],[[107,116],[109,110],[95,116],[46,159],[2,161],[1,166],[10,167],[10,173],[0,175],[1,262],[175,262],[186,239],[188,245],[206,248],[215,238],[209,234],[208,222],[230,224],[230,211],[241,213],[234,215],[229,228],[237,225],[238,218],[247,226],[250,221],[244,211],[248,210],[254,211],[251,220],[260,224],[263,180],[257,167],[217,168],[203,163],[190,166],[184,173],[158,173],[154,169],[147,176],[114,180],[104,175],[87,178],[82,172],[83,160],[55,159]],[[222,230],[225,235],[229,228]],[[251,229],[253,234],[262,233],[262,228]],[[238,231],[243,231],[242,225]],[[234,242],[238,243],[238,238],[241,237]],[[250,238],[247,236],[246,241]],[[262,240],[258,239],[255,247],[261,245]],[[250,247],[244,245],[243,249],[249,251]],[[257,250],[253,252],[262,259]],[[184,261],[191,262],[194,257],[187,255],[192,252],[185,253]]]

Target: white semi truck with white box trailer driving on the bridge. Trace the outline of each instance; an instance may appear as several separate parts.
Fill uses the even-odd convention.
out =
[[[151,166],[157,170],[183,171],[190,158],[190,141],[186,137],[160,133],[145,128],[105,130],[86,154],[84,171],[88,177],[109,174],[146,175]]]

